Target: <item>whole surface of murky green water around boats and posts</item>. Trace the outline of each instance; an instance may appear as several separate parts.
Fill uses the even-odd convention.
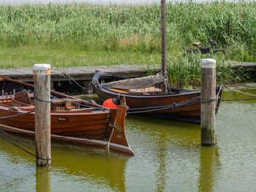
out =
[[[252,96],[222,97],[245,98]],[[134,157],[53,142],[50,168],[36,167],[33,156],[0,137],[0,191],[256,191],[255,120],[256,100],[222,101],[217,145],[201,147],[197,124],[129,116]]]

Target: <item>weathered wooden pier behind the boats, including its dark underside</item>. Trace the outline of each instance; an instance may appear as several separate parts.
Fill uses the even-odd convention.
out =
[[[234,69],[239,67],[243,68],[246,72],[253,72],[255,76],[256,63],[236,62],[232,66]],[[141,65],[111,65],[111,66],[73,66],[69,68],[52,68],[50,79],[51,79],[51,89],[56,91],[64,91],[63,87],[69,87],[65,82],[72,82],[72,80],[78,81],[81,87],[83,87],[83,92],[91,93],[92,85],[91,80],[94,76],[95,70],[101,72],[107,72],[110,74],[116,74],[123,77],[143,77],[150,72],[160,72],[161,66],[147,66]],[[14,80],[20,80],[23,82],[34,82],[32,68],[18,68],[18,69],[0,69],[0,75],[11,77]],[[255,77],[252,77],[252,80]],[[75,83],[73,83],[75,86]],[[78,87],[77,87],[78,88]]]

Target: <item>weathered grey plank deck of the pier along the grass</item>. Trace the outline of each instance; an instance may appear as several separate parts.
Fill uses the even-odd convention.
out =
[[[246,71],[255,71],[256,63],[250,62],[236,62],[232,65],[233,68],[241,66]],[[152,68],[151,71],[159,72],[161,66]],[[94,76],[95,70],[101,72],[107,72],[110,74],[116,74],[124,77],[142,77],[148,72],[147,66],[141,65],[111,65],[111,66],[72,66],[69,68],[52,68],[51,69],[51,81],[67,81],[69,77],[65,73],[70,75],[74,80],[91,80]],[[15,80],[24,82],[33,82],[33,72],[31,68],[19,68],[19,69],[0,69],[0,75],[11,77]]]

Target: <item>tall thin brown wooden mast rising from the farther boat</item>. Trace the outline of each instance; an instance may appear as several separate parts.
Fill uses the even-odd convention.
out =
[[[161,0],[161,15],[162,15],[162,74],[165,77],[165,82],[162,84],[162,93],[167,93],[165,0]]]

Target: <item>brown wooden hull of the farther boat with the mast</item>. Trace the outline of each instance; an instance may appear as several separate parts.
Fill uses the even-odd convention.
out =
[[[187,122],[200,123],[200,91],[183,91],[181,93],[167,93],[156,95],[141,95],[134,93],[120,93],[105,88],[104,84],[99,83],[100,79],[111,82],[111,75],[99,73],[94,75],[94,93],[99,99],[116,98],[118,95],[125,96],[128,114],[149,115],[155,118],[167,118],[182,120]],[[114,76],[115,80],[118,77]],[[217,109],[222,94],[221,88],[217,87],[218,100]],[[217,111],[217,110],[216,110]]]

